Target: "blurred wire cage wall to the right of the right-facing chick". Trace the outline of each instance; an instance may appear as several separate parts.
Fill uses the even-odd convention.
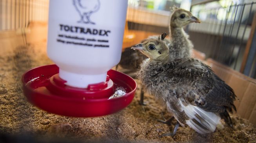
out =
[[[214,5],[216,2],[192,5],[191,11],[203,22],[189,26],[195,48],[219,63],[255,78],[255,50],[250,34],[254,32],[255,2]],[[248,48],[247,48],[248,46]],[[251,49],[251,52],[247,51]]]

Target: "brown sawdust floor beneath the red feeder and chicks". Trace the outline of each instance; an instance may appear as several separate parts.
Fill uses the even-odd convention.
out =
[[[232,115],[234,129],[225,125],[223,130],[217,129],[212,134],[200,135],[189,127],[180,127],[174,137],[159,138],[159,135],[170,132],[174,125],[168,126],[156,119],[162,119],[161,113],[165,118],[169,118],[171,114],[149,95],[145,95],[146,106],[138,105],[138,80],[133,102],[118,113],[97,118],[72,118],[47,113],[29,104],[21,88],[22,74],[45,64],[52,64],[46,55],[45,44],[18,46],[0,52],[1,134],[15,138],[19,135],[24,137],[24,134],[36,136],[36,141],[256,142],[255,126],[238,115]]]

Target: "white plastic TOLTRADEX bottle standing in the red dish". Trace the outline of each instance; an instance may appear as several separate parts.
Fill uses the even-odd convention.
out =
[[[105,82],[119,63],[127,0],[50,0],[48,57],[66,85]]]

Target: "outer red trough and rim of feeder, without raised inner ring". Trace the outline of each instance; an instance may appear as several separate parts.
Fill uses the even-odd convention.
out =
[[[59,72],[58,66],[46,65],[33,68],[22,76],[23,92],[29,102],[54,114],[74,117],[95,117],[116,113],[133,100],[137,84],[124,73],[109,70],[107,75],[113,81],[113,89],[125,89],[126,94],[118,98],[71,98],[49,91],[50,79]],[[79,96],[78,96],[79,97]]]

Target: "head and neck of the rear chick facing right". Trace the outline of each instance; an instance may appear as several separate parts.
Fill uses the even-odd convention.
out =
[[[193,22],[200,23],[201,21],[185,9],[174,8],[169,25],[172,37],[171,46],[169,46],[171,59],[191,57],[191,51],[194,45],[189,40],[189,35],[186,34],[183,27]]]

